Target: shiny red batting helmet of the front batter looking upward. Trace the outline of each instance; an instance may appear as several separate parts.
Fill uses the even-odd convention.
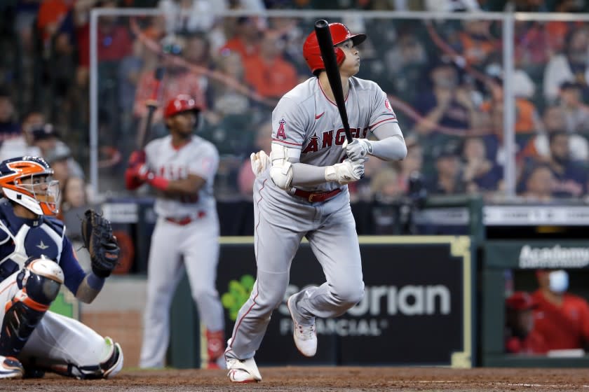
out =
[[[366,34],[352,34],[350,30],[348,30],[348,27],[341,23],[330,23],[329,26],[334,46],[339,45],[344,41],[348,41],[348,39],[351,39],[354,46],[356,46],[363,43],[366,39]],[[345,57],[344,51],[340,48],[334,48],[334,52],[337,64],[341,64]],[[321,58],[321,49],[319,48],[319,42],[317,41],[317,34],[315,34],[314,30],[309,36],[307,36],[305,43],[303,44],[303,56],[314,75],[317,75],[318,71],[325,69],[323,59]]]

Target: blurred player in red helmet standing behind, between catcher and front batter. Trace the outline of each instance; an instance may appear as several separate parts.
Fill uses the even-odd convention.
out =
[[[128,189],[149,183],[158,192],[140,367],[164,365],[170,302],[184,269],[207,328],[208,367],[219,367],[218,362],[224,366],[223,307],[215,288],[219,221],[212,193],[219,154],[213,144],[193,135],[199,112],[194,98],[186,94],[171,99],[164,111],[170,134],[133,153],[126,171]]]

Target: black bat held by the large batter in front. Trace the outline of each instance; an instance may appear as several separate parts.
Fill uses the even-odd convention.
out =
[[[317,34],[317,41],[319,49],[321,50],[321,58],[325,65],[325,73],[327,73],[327,80],[330,82],[335,104],[339,111],[341,123],[344,125],[346,131],[346,139],[348,143],[353,141],[352,132],[350,132],[350,125],[348,124],[348,112],[346,112],[346,101],[344,100],[344,89],[341,86],[341,76],[339,76],[339,67],[337,66],[337,59],[333,50],[333,38],[331,36],[330,27],[327,20],[320,19],[315,22],[315,34]]]

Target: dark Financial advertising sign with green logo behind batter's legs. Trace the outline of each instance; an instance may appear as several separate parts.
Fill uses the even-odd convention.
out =
[[[360,237],[365,293],[337,318],[318,318],[318,351],[302,356],[292,342],[286,299],[325,281],[309,244],[290,269],[282,304],[271,317],[258,365],[472,365],[472,253],[469,237]],[[217,288],[230,336],[255,281],[251,239],[225,237]]]

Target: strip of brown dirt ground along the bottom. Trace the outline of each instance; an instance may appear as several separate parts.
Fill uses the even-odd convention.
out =
[[[233,384],[224,370],[123,370],[114,379],[1,380],[0,391],[587,391],[583,369],[448,367],[260,367],[257,384]]]

